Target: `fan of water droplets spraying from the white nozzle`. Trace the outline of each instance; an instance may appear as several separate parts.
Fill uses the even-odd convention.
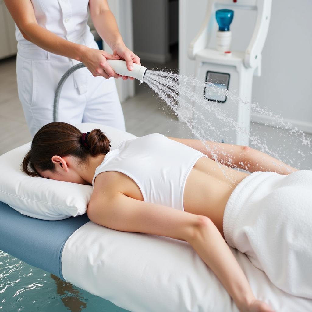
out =
[[[239,97],[235,92],[225,90],[212,83],[199,81],[194,77],[166,71],[149,70],[144,76],[144,82],[174,111],[179,120],[187,124],[194,138],[201,140],[207,151],[212,155],[212,158],[219,163],[236,167],[233,164],[233,155],[226,154],[220,148],[217,148],[216,144],[208,145],[205,142],[224,141],[230,143],[233,138],[233,132],[247,136],[251,147],[295,168],[300,167],[301,162],[308,156],[307,153],[309,156],[312,154],[311,138],[303,131],[286,122],[281,116],[274,114],[274,112],[261,108],[258,103],[250,103]],[[216,95],[218,98],[227,97],[227,103],[231,103],[231,105],[227,105],[229,109],[227,110],[226,106],[218,102],[208,101],[203,96],[204,89],[207,98],[215,98]],[[197,90],[200,90],[200,92]],[[238,105],[247,105],[251,113],[267,116],[271,120],[270,126],[282,130],[279,132],[279,146],[275,144],[274,149],[270,149],[268,146],[271,144],[268,143],[272,141],[272,137],[270,138],[263,133],[260,135],[256,131],[252,132],[241,127],[237,123],[237,117],[234,116],[233,118],[233,105],[236,111],[238,110]],[[308,149],[305,148],[305,152],[302,149],[295,150],[292,148],[298,141],[301,142],[302,146],[308,147]],[[225,161],[220,161],[220,158],[225,158]],[[278,171],[280,165],[277,165],[274,160],[271,162],[271,168]],[[261,159],[259,159],[259,170],[263,169],[261,164]],[[241,169],[247,171],[250,165],[249,163],[240,163]],[[283,165],[282,167],[286,168]]]

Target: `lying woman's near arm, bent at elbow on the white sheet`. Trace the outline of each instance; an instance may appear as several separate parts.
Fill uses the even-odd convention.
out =
[[[105,179],[110,183],[104,182],[101,192],[98,192],[100,195],[91,198],[87,208],[90,220],[118,231],[187,241],[217,275],[238,308],[245,311],[255,299],[254,295],[244,272],[213,222],[205,216],[143,202],[117,192],[123,183],[118,174],[105,173]]]

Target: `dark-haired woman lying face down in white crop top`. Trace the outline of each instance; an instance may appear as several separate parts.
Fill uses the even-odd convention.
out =
[[[22,169],[33,177],[93,185],[87,208],[91,221],[187,241],[240,311],[273,311],[256,300],[227,246],[223,217],[234,189],[249,176],[232,168],[285,175],[296,169],[248,147],[205,144],[149,134],[110,151],[100,129],[82,134],[56,122],[34,136]]]

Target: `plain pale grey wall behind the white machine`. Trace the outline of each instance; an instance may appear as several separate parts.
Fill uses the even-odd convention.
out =
[[[311,0],[273,0],[271,22],[262,51],[262,76],[254,77],[252,99],[312,133],[312,31]],[[192,75],[194,61],[187,57],[189,42],[203,21],[207,0],[179,1],[179,71]],[[233,50],[244,50],[251,36],[255,14],[235,12],[232,23]],[[244,19],[245,22],[245,19]],[[209,46],[215,44],[213,38]],[[252,120],[269,122],[262,116]]]

